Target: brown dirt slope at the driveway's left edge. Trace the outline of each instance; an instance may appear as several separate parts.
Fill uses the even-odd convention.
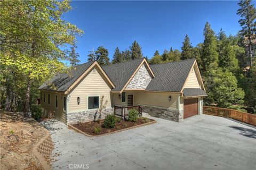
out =
[[[0,169],[43,169],[32,148],[44,135],[42,126],[33,118],[1,111]]]

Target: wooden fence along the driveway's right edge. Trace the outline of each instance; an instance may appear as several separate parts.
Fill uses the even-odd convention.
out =
[[[233,118],[235,120],[256,126],[256,115],[236,111],[234,109],[204,106],[204,114]]]

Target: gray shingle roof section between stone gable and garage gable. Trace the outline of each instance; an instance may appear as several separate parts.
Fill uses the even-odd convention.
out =
[[[153,64],[151,70],[155,74],[146,90],[149,91],[181,91],[195,59],[178,62]]]

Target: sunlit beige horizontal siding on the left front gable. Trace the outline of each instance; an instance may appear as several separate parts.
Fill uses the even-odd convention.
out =
[[[106,80],[103,79],[102,73],[96,68],[95,73],[93,71],[89,72],[74,90],[70,92],[68,112],[86,111],[88,109],[87,98],[89,96],[99,96],[99,99],[101,96],[104,96],[104,102],[108,100],[107,108],[111,108],[110,90]],[[79,105],[77,104],[77,97],[80,98]]]

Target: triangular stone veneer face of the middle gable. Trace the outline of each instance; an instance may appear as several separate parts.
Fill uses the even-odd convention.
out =
[[[149,82],[151,81],[149,70],[147,70],[146,67],[147,66],[145,64],[140,67],[138,72],[127,85],[126,89],[146,89]]]

